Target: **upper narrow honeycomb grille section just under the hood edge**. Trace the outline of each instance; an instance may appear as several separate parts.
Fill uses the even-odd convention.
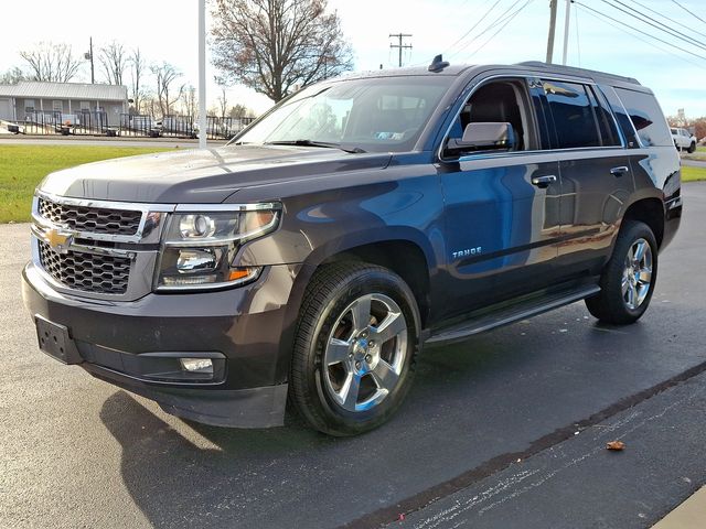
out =
[[[39,199],[39,214],[53,224],[93,234],[136,235],[142,212],[57,204]]]

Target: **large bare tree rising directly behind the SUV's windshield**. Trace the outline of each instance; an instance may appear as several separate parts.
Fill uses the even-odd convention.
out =
[[[327,0],[215,0],[213,64],[274,101],[352,68],[338,13]]]

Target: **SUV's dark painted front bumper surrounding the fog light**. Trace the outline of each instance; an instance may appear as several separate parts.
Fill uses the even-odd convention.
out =
[[[282,337],[296,317],[288,303],[298,271],[272,266],[237,289],[113,302],[56,292],[29,263],[22,295],[33,317],[68,327],[79,365],[97,378],[197,422],[265,428],[284,422],[289,347]],[[225,358],[217,380],[159,380],[145,368],[160,354],[200,353]]]

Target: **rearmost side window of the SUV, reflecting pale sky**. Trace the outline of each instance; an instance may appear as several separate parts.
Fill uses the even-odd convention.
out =
[[[628,110],[643,145],[672,147],[674,144],[662,109],[652,94],[624,88],[616,88],[616,93]]]

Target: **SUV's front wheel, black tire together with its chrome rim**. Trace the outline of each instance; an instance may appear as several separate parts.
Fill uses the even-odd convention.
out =
[[[290,401],[330,435],[377,428],[407,395],[418,348],[419,311],[402,278],[367,263],[325,266],[300,311]]]

